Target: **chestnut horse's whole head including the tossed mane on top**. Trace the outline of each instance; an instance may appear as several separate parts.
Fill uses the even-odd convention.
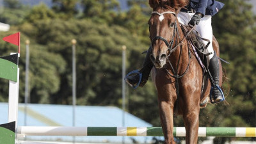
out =
[[[175,33],[177,32],[177,13],[180,9],[174,4],[180,6],[181,3],[174,3],[170,0],[152,0],[149,1],[149,4],[153,8],[152,15],[148,20],[152,47],[150,60],[156,68],[163,68],[177,34]],[[186,4],[182,3],[182,5]]]

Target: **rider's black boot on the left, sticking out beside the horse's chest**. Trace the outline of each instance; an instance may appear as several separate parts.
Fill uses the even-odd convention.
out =
[[[147,81],[148,81],[148,77],[150,75],[151,69],[153,67],[153,63],[150,60],[150,54],[151,54],[151,47],[149,47],[148,52],[147,52],[147,56],[144,60],[143,63],[143,68],[141,68],[139,70],[139,72],[142,74],[142,78],[141,78],[141,83],[139,86],[143,87]],[[136,84],[139,83],[140,80],[140,74],[135,74],[133,76],[127,76],[125,77],[125,81],[130,85],[130,86],[135,86]]]

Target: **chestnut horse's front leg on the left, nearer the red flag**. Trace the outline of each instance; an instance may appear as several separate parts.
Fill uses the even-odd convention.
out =
[[[173,102],[159,96],[159,115],[164,133],[164,143],[175,144],[173,138]]]

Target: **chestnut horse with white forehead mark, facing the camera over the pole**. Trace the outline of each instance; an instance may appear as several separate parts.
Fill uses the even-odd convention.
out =
[[[206,106],[211,83],[208,80],[202,88],[203,70],[177,19],[180,8],[186,6],[187,2],[182,4],[169,1],[149,1],[153,8],[148,20],[152,47],[150,59],[154,63],[152,79],[157,89],[164,143],[175,143],[173,113],[178,111],[186,127],[186,144],[195,144],[198,140],[200,104],[206,101],[203,107]],[[219,56],[218,42],[213,39],[214,51]],[[220,86],[221,83],[220,63]]]

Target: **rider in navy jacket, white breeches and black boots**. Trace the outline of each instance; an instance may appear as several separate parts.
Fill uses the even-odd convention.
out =
[[[211,17],[218,13],[218,11],[223,8],[224,4],[215,0],[191,0],[186,6],[182,8],[178,13],[178,20],[181,24],[195,26],[196,31],[202,36],[210,40],[211,44],[208,46],[208,51],[211,52],[209,55],[209,71],[211,72],[214,83],[219,86],[219,61],[212,48],[212,26]],[[207,42],[205,42],[205,45]],[[153,63],[150,61],[149,55],[151,47],[148,49],[147,56],[143,63],[143,68],[139,70],[139,73],[133,76],[127,76],[125,81],[131,85],[135,86],[139,83],[140,74],[142,74],[140,86],[144,86],[147,83],[150,71],[153,67]],[[220,89],[214,86],[212,89],[212,96],[214,101],[218,102],[223,99]]]

